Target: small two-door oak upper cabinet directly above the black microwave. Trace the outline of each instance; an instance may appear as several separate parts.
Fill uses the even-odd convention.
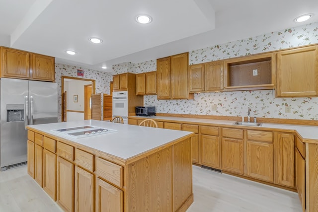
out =
[[[157,94],[157,71],[136,74],[136,95]]]

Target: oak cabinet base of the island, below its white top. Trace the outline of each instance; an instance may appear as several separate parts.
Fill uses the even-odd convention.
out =
[[[34,179],[43,170],[44,191],[65,212],[185,212],[193,202],[192,132],[175,131],[182,136],[123,159],[79,140],[63,139],[35,126],[27,128],[28,173]],[[104,136],[100,138],[109,138]],[[39,145],[35,137],[46,142]],[[40,147],[43,155],[37,156]],[[40,156],[43,168],[36,162]]]

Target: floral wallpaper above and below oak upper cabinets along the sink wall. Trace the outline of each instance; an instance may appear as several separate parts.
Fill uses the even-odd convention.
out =
[[[287,28],[256,37],[189,52],[189,64],[263,53],[290,47],[318,43],[318,22]],[[157,61],[139,64],[124,63],[113,66],[114,74],[141,73],[157,70]],[[194,100],[158,100],[157,95],[144,97],[145,106],[156,106],[157,113],[247,116],[318,120],[318,98],[275,98],[274,90],[229,91],[195,94]],[[216,105],[217,110],[212,110]],[[286,113],[286,106],[291,108]]]

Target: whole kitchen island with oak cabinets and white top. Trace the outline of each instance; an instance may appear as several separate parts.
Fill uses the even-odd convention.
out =
[[[82,126],[101,130],[68,134]],[[28,174],[64,211],[184,212],[193,202],[191,132],[95,120],[27,129]]]

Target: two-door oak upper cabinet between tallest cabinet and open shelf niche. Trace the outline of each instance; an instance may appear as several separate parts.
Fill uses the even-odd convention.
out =
[[[192,93],[223,90],[224,61],[189,66],[189,91]]]

